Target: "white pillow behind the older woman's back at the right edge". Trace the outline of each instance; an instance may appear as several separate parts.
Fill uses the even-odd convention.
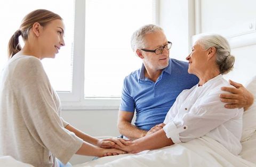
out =
[[[243,115],[242,142],[248,140],[256,131],[256,76],[248,82],[246,89],[254,95],[254,103]]]

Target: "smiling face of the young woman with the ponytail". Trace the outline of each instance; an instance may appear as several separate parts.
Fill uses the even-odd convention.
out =
[[[65,27],[62,20],[56,19],[42,28],[40,35],[41,59],[54,58],[61,46],[65,46],[63,39]]]

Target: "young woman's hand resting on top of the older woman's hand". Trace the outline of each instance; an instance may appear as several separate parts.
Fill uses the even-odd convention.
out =
[[[97,146],[101,148],[116,148],[116,146],[124,147],[131,143],[131,140],[125,140],[122,138],[108,138],[108,139],[99,139]]]

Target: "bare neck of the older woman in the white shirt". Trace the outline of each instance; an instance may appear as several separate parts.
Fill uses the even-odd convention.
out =
[[[207,81],[214,77],[217,77],[219,74],[219,69],[212,70],[211,68],[204,70],[201,73],[197,73],[196,76],[199,78],[199,86],[204,85]]]

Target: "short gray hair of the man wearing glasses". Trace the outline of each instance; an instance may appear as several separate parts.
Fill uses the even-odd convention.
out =
[[[148,24],[145,26],[142,26],[139,28],[137,31],[135,31],[132,35],[131,38],[131,46],[132,46],[132,51],[136,51],[137,48],[145,48],[146,43],[144,41],[144,37],[146,34],[150,34],[152,32],[156,31],[163,31],[161,27],[158,27],[154,24]]]

